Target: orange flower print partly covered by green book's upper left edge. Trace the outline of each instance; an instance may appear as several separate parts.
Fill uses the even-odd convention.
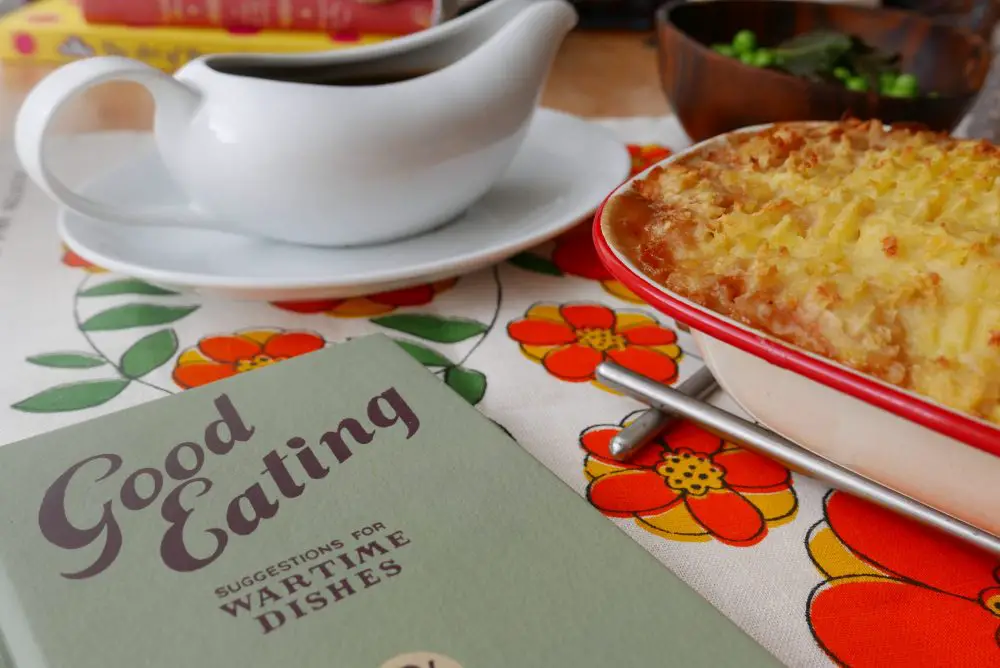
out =
[[[325,345],[312,332],[260,329],[206,336],[177,358],[174,382],[188,389],[297,357]]]

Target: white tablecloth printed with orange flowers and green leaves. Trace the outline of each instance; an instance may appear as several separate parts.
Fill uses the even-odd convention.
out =
[[[632,142],[636,169],[686,142],[673,119],[605,124]],[[93,173],[138,141],[68,139],[60,171]],[[785,664],[1000,666],[996,559],[691,425],[628,465],[607,456],[641,407],[595,383],[597,364],[673,383],[700,362],[673,321],[601,267],[587,221],[429,285],[296,304],[199,299],[67,252],[56,207],[2,151],[0,443],[384,332]],[[601,587],[629,574],[608,577],[594,583],[595,614]]]

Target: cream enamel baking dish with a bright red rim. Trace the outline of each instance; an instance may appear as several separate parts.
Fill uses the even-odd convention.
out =
[[[608,270],[648,304],[686,324],[733,399],[768,428],[813,452],[1000,535],[1000,426],[805,351],[683,298],[643,274],[606,233],[608,201],[710,143],[678,152],[612,192],[594,219]]]

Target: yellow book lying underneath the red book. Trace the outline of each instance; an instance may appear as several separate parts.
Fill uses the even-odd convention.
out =
[[[0,59],[61,64],[90,56],[127,56],[172,72],[209,53],[328,51],[392,39],[357,39],[323,32],[217,28],[131,27],[87,23],[73,0],[39,0],[0,18]]]

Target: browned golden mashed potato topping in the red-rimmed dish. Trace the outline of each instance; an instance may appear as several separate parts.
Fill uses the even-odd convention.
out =
[[[1000,149],[880,123],[713,142],[604,225],[669,290],[1000,423]]]

